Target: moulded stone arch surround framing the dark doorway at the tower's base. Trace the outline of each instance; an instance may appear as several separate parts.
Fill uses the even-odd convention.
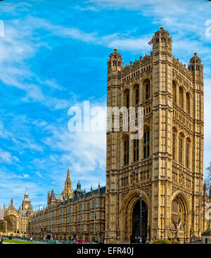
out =
[[[143,194],[142,200],[145,202],[147,207],[147,224],[149,225],[149,202],[146,193],[141,191]],[[130,243],[132,236],[132,225],[133,225],[133,212],[134,206],[140,200],[140,190],[132,190],[125,195],[121,206],[120,216],[120,243]]]

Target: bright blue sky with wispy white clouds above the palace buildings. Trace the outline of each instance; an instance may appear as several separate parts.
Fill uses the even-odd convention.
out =
[[[173,2],[173,3],[172,3]],[[198,52],[205,66],[205,167],[211,161],[211,3],[203,0],[1,1],[0,202],[18,207],[27,186],[32,205],[63,189],[106,184],[106,134],[71,133],[68,109],[106,106],[107,58],[124,65],[149,54],[155,30],[172,35],[173,55],[186,65]],[[208,22],[209,23],[209,22]],[[210,22],[211,25],[211,22]]]

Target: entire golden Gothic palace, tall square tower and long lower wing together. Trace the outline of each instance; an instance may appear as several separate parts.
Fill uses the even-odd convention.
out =
[[[77,183],[73,191],[68,169],[63,192],[52,190],[47,207],[33,211],[27,191],[22,208],[15,209],[13,200],[4,207],[6,233],[134,243],[140,235],[143,240],[200,237],[209,228],[203,65],[197,53],[188,67],[180,63],[172,56],[172,37],[160,27],[148,56],[123,67],[114,49],[107,82],[108,107],[134,107],[136,124],[143,108],[143,137],[132,139],[134,131],[122,129],[120,115],[120,130],[107,131],[106,186],[87,193]],[[114,115],[111,119],[113,124]]]

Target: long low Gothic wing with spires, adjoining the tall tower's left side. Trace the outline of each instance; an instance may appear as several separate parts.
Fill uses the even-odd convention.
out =
[[[106,187],[100,187],[89,193],[82,191],[77,183],[77,190],[72,191],[68,169],[65,188],[62,194],[51,191],[48,205],[31,217],[30,236],[37,238],[101,242],[105,238],[105,198]]]

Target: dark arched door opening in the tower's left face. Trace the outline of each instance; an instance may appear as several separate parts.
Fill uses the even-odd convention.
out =
[[[138,200],[134,205],[133,214],[132,214],[131,243],[139,243],[140,237],[141,237],[142,243],[146,243],[147,217],[148,217],[148,214],[147,214],[146,202],[144,202],[143,200],[141,201]]]

